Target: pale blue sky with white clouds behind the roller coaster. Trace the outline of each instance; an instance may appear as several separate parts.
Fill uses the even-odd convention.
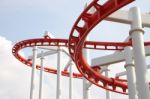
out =
[[[0,0],[0,99],[29,99],[31,68],[14,58],[11,53],[13,45],[21,40],[43,37],[45,31],[49,31],[56,38],[68,39],[75,20],[83,11],[85,4],[89,2],[91,0]],[[143,13],[149,13],[150,4],[147,2],[147,0],[136,0],[122,10],[138,6]],[[129,29],[128,25],[103,21],[91,31],[89,39],[123,41],[128,36]],[[144,30],[144,39],[149,41],[150,29],[144,28]],[[112,53],[90,52],[91,58]],[[31,54],[31,50],[21,53],[26,56],[26,53]],[[46,61],[48,61],[45,62],[46,65],[56,66],[55,55]],[[66,61],[68,58],[63,55],[62,64],[66,64]],[[113,66],[113,70],[118,69],[118,65]],[[123,69],[122,66],[120,70]],[[35,99],[38,98],[38,81],[39,71],[36,71]],[[90,92],[92,99],[105,99],[105,91],[101,88],[92,85]],[[55,99],[55,96],[56,75],[44,73],[43,99]],[[74,79],[73,97],[73,99],[82,99],[82,80],[80,79]],[[127,96],[112,93],[112,99],[120,98],[128,99]],[[62,99],[69,99],[66,77],[62,78]]]

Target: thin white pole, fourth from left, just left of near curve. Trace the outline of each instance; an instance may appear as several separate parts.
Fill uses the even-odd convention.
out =
[[[69,99],[72,99],[72,77],[73,77],[73,72],[72,72],[72,63],[70,64],[69,68],[70,72],[70,77],[69,77]]]

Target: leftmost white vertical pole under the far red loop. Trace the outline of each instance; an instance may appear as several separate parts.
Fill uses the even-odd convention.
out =
[[[33,59],[32,59],[32,72],[31,72],[31,87],[30,87],[30,99],[33,99],[33,88],[34,88],[34,72],[36,69],[36,58],[37,58],[37,47],[33,47]]]

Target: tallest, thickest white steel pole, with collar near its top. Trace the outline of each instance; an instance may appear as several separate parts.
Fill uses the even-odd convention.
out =
[[[133,7],[130,9],[130,14],[129,18],[132,20],[130,35],[133,44],[138,98],[150,99],[143,40],[144,31],[142,29],[140,9]]]

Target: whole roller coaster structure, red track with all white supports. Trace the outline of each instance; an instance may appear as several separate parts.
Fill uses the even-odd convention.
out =
[[[61,75],[70,78],[69,99],[72,99],[73,77],[84,80],[84,99],[90,99],[88,95],[91,84],[106,89],[107,99],[111,98],[109,91],[120,94],[129,94],[129,99],[149,99],[150,92],[146,78],[147,67],[145,57],[150,55],[150,42],[144,43],[143,27],[150,27],[150,15],[141,14],[140,9],[137,7],[131,8],[129,12],[115,12],[133,1],[134,0],[108,0],[104,4],[100,4],[98,0],[93,0],[76,20],[72,27],[69,39],[51,38],[46,34],[44,38],[23,40],[15,44],[12,49],[13,55],[22,63],[32,67],[30,99],[33,99],[35,68],[41,70],[39,99],[42,99],[43,71],[57,74],[56,99],[61,99]],[[131,26],[131,30],[129,30],[130,40],[127,42],[86,41],[90,31],[102,20],[129,24]],[[81,26],[81,22],[83,22],[84,25]],[[44,48],[44,46],[55,46],[57,49],[49,49],[51,51],[37,54],[37,48],[48,49]],[[28,59],[19,54],[19,51],[26,47],[33,47],[33,56],[29,56]],[[68,47],[69,53],[61,49],[61,47]],[[85,52],[83,51],[83,48],[93,50],[114,50],[120,52],[93,59],[91,66],[91,64],[87,62],[88,58],[87,55],[85,55],[86,53],[83,53]],[[61,69],[61,52],[64,52],[71,57],[64,70]],[[57,53],[58,58],[57,70],[46,66],[43,67],[44,57],[55,53]],[[36,64],[36,58],[41,58],[41,66]],[[73,73],[71,66],[72,61],[77,66],[80,73]],[[108,75],[108,68],[106,67],[122,61],[125,61],[126,63],[126,72],[117,74],[114,78],[110,78]],[[70,68],[69,71],[68,68]],[[102,75],[102,72],[105,72],[105,75]],[[125,74],[127,74],[127,80],[119,78],[120,75]],[[122,90],[120,90],[120,88]]]

